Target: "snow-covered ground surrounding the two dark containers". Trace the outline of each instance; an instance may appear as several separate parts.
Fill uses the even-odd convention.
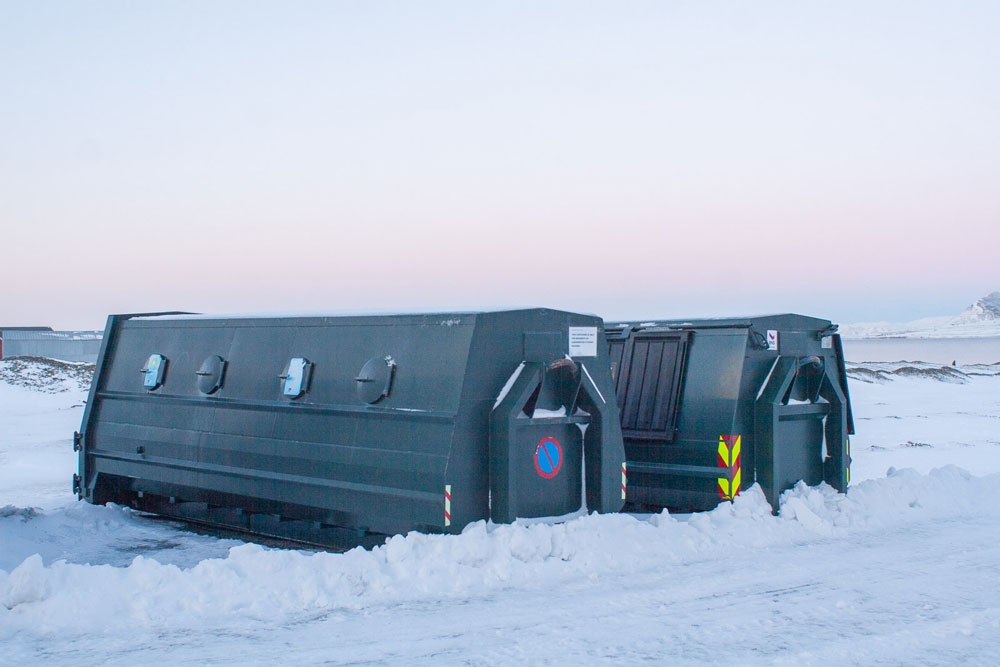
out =
[[[1000,664],[1000,366],[906,366],[851,372],[847,495],[344,554],[76,502],[84,394],[0,381],[0,663]]]

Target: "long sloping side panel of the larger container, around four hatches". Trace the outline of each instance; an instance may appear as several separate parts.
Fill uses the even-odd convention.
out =
[[[474,320],[123,320],[89,460],[133,497],[312,508],[378,532],[434,527]],[[167,367],[151,390],[140,370],[152,354]],[[198,373],[212,355],[225,368],[206,395]],[[289,398],[279,376],[293,357],[308,361],[311,378]],[[386,369],[373,402],[358,389],[372,359]]]

